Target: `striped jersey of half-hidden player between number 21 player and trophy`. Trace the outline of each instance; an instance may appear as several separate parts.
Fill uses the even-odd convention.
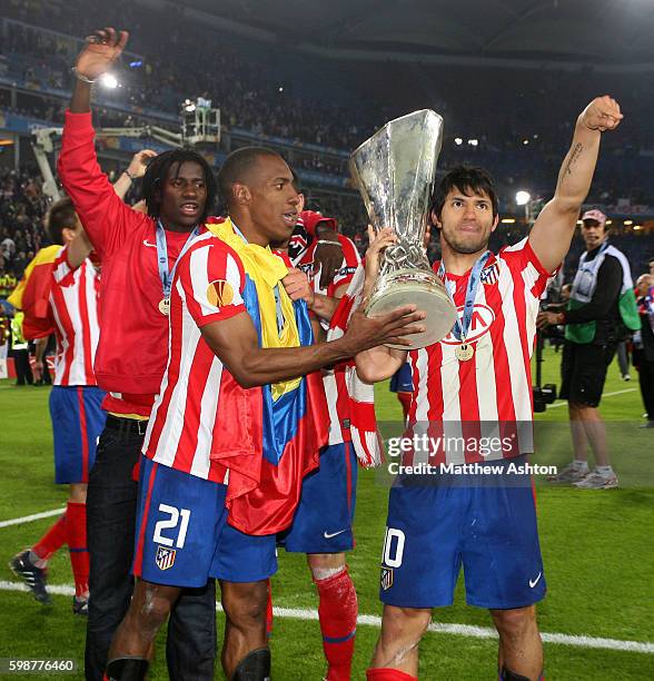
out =
[[[314,269],[314,255],[317,246],[316,240],[307,248],[297,265],[297,267],[309,277],[314,290],[329,297],[334,297],[336,290],[341,286],[349,285],[357,267],[361,263],[357,247],[351,239],[338,235],[338,240],[343,247],[343,264],[334,276],[334,280],[326,289],[320,288],[320,270],[315,272]],[[320,320],[320,324],[325,330],[329,328],[327,323]],[[325,385],[325,395],[329,408],[329,445],[349,442],[351,440],[350,399],[346,386],[347,371],[348,367],[346,364],[339,364],[333,369],[323,369],[323,383]]]

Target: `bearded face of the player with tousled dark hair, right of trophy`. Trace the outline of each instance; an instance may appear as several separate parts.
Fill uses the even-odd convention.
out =
[[[477,254],[486,250],[490,234],[497,227],[493,203],[485,191],[450,189],[445,196],[440,217],[432,211],[432,219],[440,230],[444,248],[456,254]]]

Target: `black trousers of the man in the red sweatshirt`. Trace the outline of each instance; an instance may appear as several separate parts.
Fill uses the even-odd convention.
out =
[[[89,474],[87,532],[91,570],[85,654],[89,681],[102,681],[111,639],[129,608],[138,496],[132,470],[142,443],[143,435],[127,427],[105,428]],[[202,589],[185,590],[170,615],[166,644],[170,679],[209,681],[214,679],[215,658],[216,582],[209,580]]]

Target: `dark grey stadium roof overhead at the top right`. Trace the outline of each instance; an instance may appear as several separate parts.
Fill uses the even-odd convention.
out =
[[[654,63],[652,0],[184,0],[264,40],[363,59]],[[525,63],[526,66],[526,63]]]

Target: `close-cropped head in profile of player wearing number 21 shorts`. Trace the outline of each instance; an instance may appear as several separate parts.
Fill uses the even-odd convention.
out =
[[[294,186],[293,172],[280,156],[257,157],[247,177],[235,184],[235,194],[238,201],[234,217],[249,240],[267,246],[290,238],[301,198]]]

